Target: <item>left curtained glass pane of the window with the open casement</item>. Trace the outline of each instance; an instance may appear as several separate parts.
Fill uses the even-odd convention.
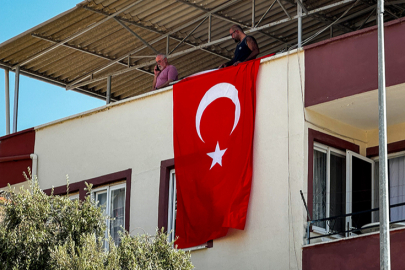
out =
[[[326,153],[314,150],[312,219],[322,218],[326,218]],[[316,222],[314,225],[326,229],[325,221]]]

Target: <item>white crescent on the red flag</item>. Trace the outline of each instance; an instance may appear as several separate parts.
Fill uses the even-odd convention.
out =
[[[218,83],[211,87],[203,96],[198,105],[197,114],[195,116],[195,127],[197,129],[198,137],[200,137],[201,141],[204,142],[203,138],[201,137],[200,132],[200,123],[201,117],[204,113],[204,110],[210,105],[212,102],[217,100],[218,98],[225,97],[232,100],[233,104],[235,104],[235,120],[233,123],[233,128],[230,134],[234,131],[236,126],[238,125],[239,118],[240,118],[240,103],[238,97],[238,90],[235,88],[234,85],[230,83]]]

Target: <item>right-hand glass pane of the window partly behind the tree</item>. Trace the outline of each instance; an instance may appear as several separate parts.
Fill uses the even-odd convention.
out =
[[[116,245],[120,244],[118,232],[124,228],[125,217],[125,188],[111,191],[110,235]]]

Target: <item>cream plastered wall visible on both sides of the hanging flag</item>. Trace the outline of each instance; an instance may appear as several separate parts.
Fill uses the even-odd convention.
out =
[[[299,64],[292,53],[258,75],[254,172],[246,229],[192,252],[196,269],[301,269],[306,144]],[[112,104],[38,127],[43,189],[132,168],[130,230],[157,226],[160,162],[173,158],[172,91]],[[139,231],[134,231],[137,233]],[[298,265],[297,265],[298,264]]]

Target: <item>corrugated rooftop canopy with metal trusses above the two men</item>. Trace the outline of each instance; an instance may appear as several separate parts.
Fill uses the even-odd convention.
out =
[[[122,100],[151,89],[157,53],[179,78],[232,58],[233,24],[259,56],[296,46],[301,9],[304,44],[376,25],[375,0],[297,1],[86,0],[0,44],[0,67],[103,99],[111,76],[111,99]],[[385,20],[402,17],[404,2],[387,2]]]

